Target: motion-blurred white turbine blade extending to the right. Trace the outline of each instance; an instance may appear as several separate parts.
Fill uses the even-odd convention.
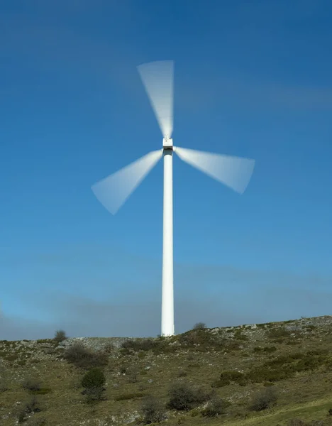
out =
[[[230,155],[206,153],[178,147],[175,148],[175,153],[186,163],[231,187],[236,192],[240,192],[240,194],[245,191],[255,167],[255,160],[249,158],[231,157]]]

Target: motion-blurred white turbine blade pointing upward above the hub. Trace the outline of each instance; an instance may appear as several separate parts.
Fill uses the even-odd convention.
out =
[[[172,60],[149,62],[137,67],[150,98],[162,136],[170,138],[173,131],[173,69]]]

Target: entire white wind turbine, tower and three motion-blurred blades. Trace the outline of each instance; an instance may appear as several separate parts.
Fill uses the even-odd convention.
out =
[[[255,160],[194,151],[173,146],[173,61],[149,62],[138,72],[150,98],[162,131],[162,149],[152,151],[113,175],[92,185],[94,195],[112,214],[116,214],[129,195],[142,182],[158,160],[164,158],[164,207],[162,241],[162,336],[174,329],[173,297],[173,153],[202,172],[243,193],[253,173]]]

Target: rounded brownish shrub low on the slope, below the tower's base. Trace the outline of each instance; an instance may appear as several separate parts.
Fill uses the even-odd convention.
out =
[[[209,400],[211,395],[186,381],[178,381],[170,387],[169,397],[168,408],[188,411]]]

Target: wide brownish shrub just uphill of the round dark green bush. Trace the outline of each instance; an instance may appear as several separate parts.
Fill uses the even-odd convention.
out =
[[[105,366],[108,355],[104,351],[91,351],[80,343],[74,343],[65,351],[65,359],[79,368]]]

